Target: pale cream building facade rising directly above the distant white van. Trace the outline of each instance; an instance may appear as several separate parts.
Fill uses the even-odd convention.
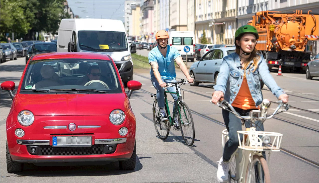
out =
[[[187,2],[186,0],[170,0],[169,29],[171,31],[187,30]]]

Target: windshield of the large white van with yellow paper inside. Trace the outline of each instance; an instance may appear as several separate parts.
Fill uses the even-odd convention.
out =
[[[128,43],[124,32],[78,31],[81,50],[88,51],[127,51]]]

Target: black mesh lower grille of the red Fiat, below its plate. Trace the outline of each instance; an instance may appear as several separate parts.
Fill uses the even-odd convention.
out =
[[[98,155],[103,153],[105,145],[93,145],[92,147],[55,147],[41,146],[42,156],[75,156],[75,155]]]

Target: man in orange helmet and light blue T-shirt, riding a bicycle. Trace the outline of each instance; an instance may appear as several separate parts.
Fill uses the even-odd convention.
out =
[[[153,48],[148,53],[148,62],[151,65],[151,80],[154,88],[157,89],[156,97],[160,110],[160,119],[161,121],[168,120],[168,117],[165,114],[165,101],[164,101],[164,87],[166,87],[166,83],[176,82],[176,72],[175,72],[175,64],[180,67],[184,75],[186,76],[188,82],[192,83],[193,78],[189,76],[186,65],[183,62],[182,56],[179,51],[172,46],[167,45],[168,43],[168,33],[164,30],[160,30],[155,34],[156,41],[158,46]],[[176,92],[175,87],[167,88],[170,92]],[[180,90],[178,91],[181,92]],[[177,95],[171,94],[174,98],[175,102],[178,100]],[[173,111],[176,105],[173,106]],[[169,114],[167,114],[169,115]],[[175,128],[179,131],[180,127],[177,121],[177,114],[174,116],[174,124]]]

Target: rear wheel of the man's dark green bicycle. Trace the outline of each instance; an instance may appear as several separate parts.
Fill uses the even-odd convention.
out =
[[[171,126],[167,126],[168,122],[163,122],[159,119],[159,106],[157,105],[157,100],[153,103],[153,122],[159,138],[163,140],[166,139]]]

